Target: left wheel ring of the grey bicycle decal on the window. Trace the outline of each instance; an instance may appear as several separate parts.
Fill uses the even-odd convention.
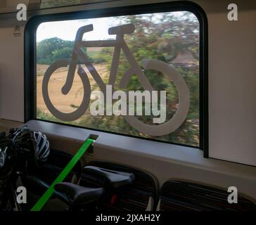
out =
[[[89,82],[89,78],[87,77],[87,73],[79,66],[78,75],[82,80],[84,95],[82,99],[81,105],[72,113],[63,113],[58,110],[53,103],[51,103],[51,99],[49,97],[49,81],[51,79],[51,75],[53,72],[59,68],[67,67],[69,65],[68,60],[58,60],[55,63],[51,64],[49,68],[46,70],[44,75],[43,84],[42,84],[42,94],[44,98],[44,103],[46,107],[49,109],[52,115],[54,115],[57,119],[70,122],[79,119],[82,115],[84,115],[85,111],[87,110],[90,102],[91,96],[91,85]]]

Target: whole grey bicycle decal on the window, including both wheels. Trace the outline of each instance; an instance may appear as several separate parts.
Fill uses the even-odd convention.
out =
[[[139,64],[136,62],[136,59],[132,55],[129,47],[127,46],[126,42],[124,41],[124,34],[132,34],[135,30],[134,25],[127,24],[121,25],[117,27],[110,27],[108,29],[108,34],[115,34],[116,39],[114,40],[100,40],[100,41],[82,41],[82,37],[84,33],[91,32],[94,30],[93,25],[86,25],[80,27],[77,30],[77,34],[75,37],[75,46],[72,53],[71,60],[58,60],[55,63],[51,64],[49,68],[46,70],[44,75],[43,83],[42,83],[42,94],[44,98],[44,102],[46,107],[49,111],[59,120],[68,122],[74,121],[79,119],[84,113],[87,111],[90,102],[91,96],[91,86],[89,82],[89,78],[87,73],[83,70],[83,68],[79,65],[77,73],[82,80],[82,85],[84,88],[84,95],[82,99],[81,105],[72,113],[63,113],[58,110],[49,98],[49,80],[53,72],[56,71],[58,68],[67,67],[68,68],[68,75],[65,81],[63,88],[61,89],[63,94],[68,94],[70,89],[72,88],[72,84],[75,77],[75,70],[77,68],[78,61],[82,60],[84,65],[87,67],[89,72],[91,73],[92,77],[94,78],[96,84],[98,84],[99,88],[103,93],[105,93],[106,85],[104,84],[103,80],[101,79],[100,75],[94,68],[94,65],[89,60],[89,57],[82,51],[82,48],[89,48],[89,47],[114,47],[113,53],[113,60],[111,63],[110,68],[110,77],[108,79],[108,84],[112,85],[115,88],[115,82],[117,77],[118,71],[118,64],[120,60],[120,52],[121,50],[124,53],[124,56],[127,58],[127,61],[130,65],[129,69],[124,72],[119,84],[120,89],[125,89],[127,84],[129,83],[129,79],[133,75],[136,75],[139,79],[139,82],[144,90],[148,91],[155,91],[153,86],[146,78],[146,75],[141,70]],[[160,60],[155,59],[148,59],[143,60],[142,62],[143,68],[145,70],[156,70],[162,72],[162,74],[167,75],[170,81],[174,82],[174,85],[177,88],[178,95],[179,95],[179,106],[177,108],[176,113],[174,116],[167,122],[159,125],[152,125],[152,124],[145,124],[138,120],[134,115],[125,115],[124,119],[132,126],[134,129],[138,130],[139,132],[151,136],[162,136],[165,134],[169,134],[172,131],[178,129],[181,124],[183,124],[184,120],[186,120],[186,115],[188,114],[189,109],[189,91],[186,82],[184,81],[183,77],[174,70],[170,65],[164,63]],[[114,90],[113,90],[114,91]]]

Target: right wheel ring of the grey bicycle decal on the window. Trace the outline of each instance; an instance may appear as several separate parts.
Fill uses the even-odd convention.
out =
[[[162,72],[162,74],[168,76],[170,81],[174,82],[179,95],[179,107],[172,119],[159,125],[145,124],[138,120],[134,115],[126,115],[124,116],[124,119],[142,134],[151,136],[162,136],[169,134],[178,129],[186,120],[190,101],[188,86],[186,85],[186,82],[184,81],[183,77],[181,77],[179,72],[174,70],[174,68],[172,68],[167,63],[164,63],[160,60],[144,60],[143,68],[145,68],[145,70],[156,70]]]

